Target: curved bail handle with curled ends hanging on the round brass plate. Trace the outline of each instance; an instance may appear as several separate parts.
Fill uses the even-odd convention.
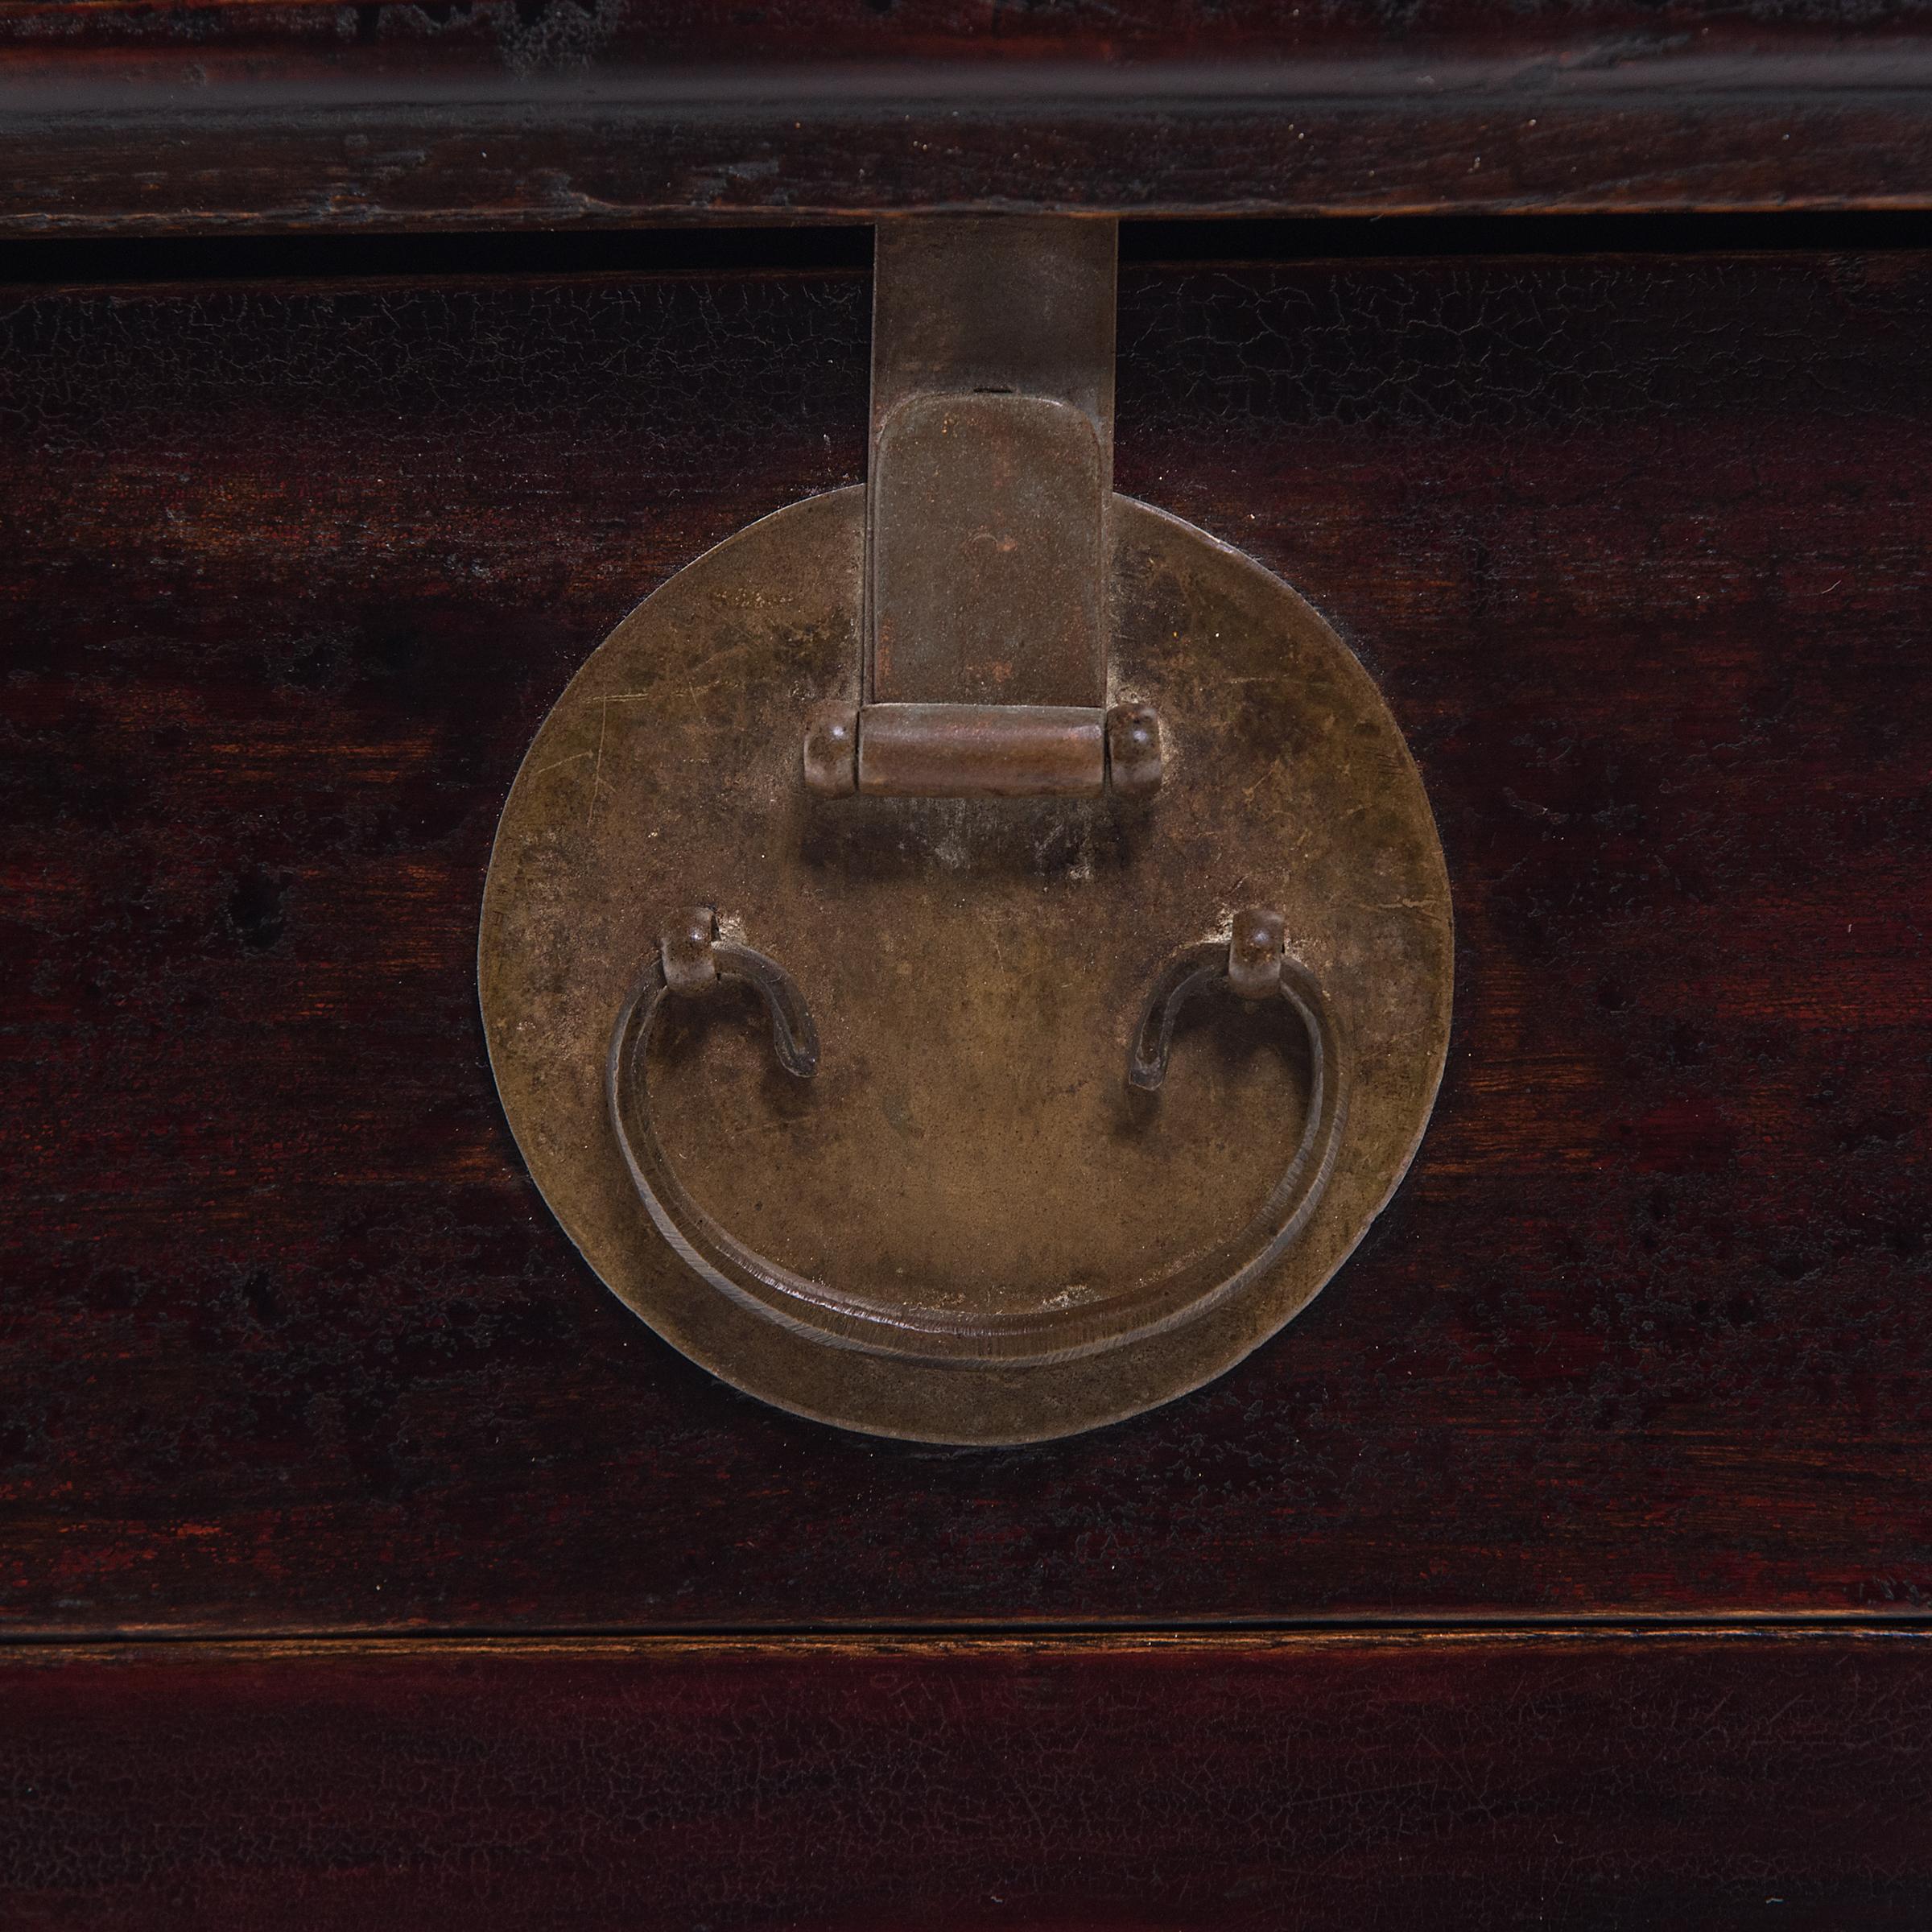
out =
[[[1294,1153],[1246,1227],[1209,1254],[1086,1306],[1012,1316],[958,1316],[846,1294],[757,1254],[724,1229],[678,1180],[651,1117],[645,1061],[672,999],[703,997],[719,981],[750,985],[765,1003],[779,1065],[817,1070],[819,1043],[796,981],[777,960],[721,939],[709,906],[667,927],[611,1036],[605,1094],[611,1124],[639,1200],[697,1275],[759,1314],[842,1347],[920,1360],[1059,1362],[1095,1354],[1202,1314],[1275,1262],[1306,1227],[1335,1171],[1347,1113],[1341,1037],[1321,985],[1281,945],[1281,920],[1242,912],[1231,939],[1184,947],[1163,968],[1128,1049],[1128,1086],[1155,1092],[1180,1009],[1227,985],[1244,999],[1279,997],[1308,1039],[1308,1113]]]

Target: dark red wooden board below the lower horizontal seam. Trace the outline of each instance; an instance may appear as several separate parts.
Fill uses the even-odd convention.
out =
[[[1932,1638],[0,1662],[12,1924],[1917,1928]]]

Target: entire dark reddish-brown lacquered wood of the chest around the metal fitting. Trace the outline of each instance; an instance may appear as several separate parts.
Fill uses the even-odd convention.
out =
[[[0,1918],[1922,1924],[1922,29],[0,8]],[[1352,1260],[1018,1449],[663,1343],[477,1010],[533,734],[866,481],[939,205],[1128,216],[1115,485],[1455,908]]]

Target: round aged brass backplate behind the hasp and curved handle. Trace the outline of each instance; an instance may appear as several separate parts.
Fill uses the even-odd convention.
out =
[[[1124,497],[1111,697],[1151,703],[1150,800],[813,798],[800,726],[858,690],[864,491],[792,504],[678,572],[591,653],[510,790],[483,895],[491,1065],[591,1267],[752,1395],[881,1435],[1068,1435],[1219,1376],[1349,1256],[1422,1138],[1449,1036],[1449,881],[1368,672],[1279,578]],[[1095,1308],[1211,1252],[1304,1121],[1293,1026],[1182,1016],[1165,1088],[1128,1037],[1163,962],[1233,908],[1287,947],[1347,1041],[1333,1179],[1289,1252],[1157,1333],[1051,1360],[875,1352],[713,1287],[659,1238],[607,1117],[612,1026],[657,933],[715,904],[817,1020],[813,1080],[757,1003],[680,1009],[653,1115],[697,1206],[806,1279],[923,1323]]]

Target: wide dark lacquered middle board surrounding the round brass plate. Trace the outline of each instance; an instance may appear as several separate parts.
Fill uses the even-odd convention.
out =
[[[6,296],[8,1625],[1922,1609],[1932,263],[1128,272],[1121,487],[1381,678],[1459,1022],[1308,1316],[1018,1453],[657,1343],[475,1016],[529,734],[670,570],[856,479],[866,301]]]

